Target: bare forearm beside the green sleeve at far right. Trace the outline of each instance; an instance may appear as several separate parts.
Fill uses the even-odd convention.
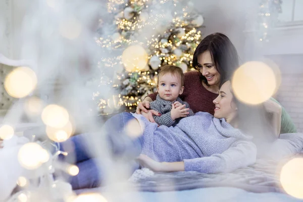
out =
[[[274,129],[274,133],[276,137],[279,137],[281,130],[282,107],[271,99],[264,103],[264,107],[266,112],[270,115],[270,123]]]

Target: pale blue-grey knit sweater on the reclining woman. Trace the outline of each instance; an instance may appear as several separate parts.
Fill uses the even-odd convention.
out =
[[[142,115],[133,116],[144,129],[142,154],[156,161],[183,161],[185,171],[201,173],[230,172],[256,162],[251,137],[209,113],[197,112],[175,127],[158,127]]]

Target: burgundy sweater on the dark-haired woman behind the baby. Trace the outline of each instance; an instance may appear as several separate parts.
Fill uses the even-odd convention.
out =
[[[215,104],[213,100],[218,94],[207,90],[202,85],[198,71],[186,72],[184,76],[184,91],[183,94],[180,95],[180,98],[189,104],[190,109],[192,109],[194,113],[208,112],[214,115]],[[156,100],[157,94],[158,92],[155,92],[147,96]]]

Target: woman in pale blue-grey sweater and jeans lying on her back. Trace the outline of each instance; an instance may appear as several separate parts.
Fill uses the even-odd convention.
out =
[[[141,166],[165,172],[219,173],[254,164],[257,149],[251,137],[237,129],[238,110],[230,81],[222,85],[214,104],[214,116],[198,112],[170,128],[158,127],[137,114],[122,113],[112,117],[104,125],[112,155],[129,160],[137,158]],[[132,129],[144,129],[139,137],[130,137],[133,132],[127,130],[130,123]],[[73,188],[98,186],[102,181],[98,178],[99,168],[87,155],[85,135],[70,138],[61,148],[64,150],[71,143],[75,146],[74,155],[80,170],[71,180]],[[69,154],[73,155],[71,151]]]

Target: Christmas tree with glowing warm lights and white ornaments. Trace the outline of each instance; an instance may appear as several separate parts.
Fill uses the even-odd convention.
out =
[[[109,20],[101,19],[97,44],[102,49],[97,85],[112,85],[113,93],[94,92],[102,114],[132,110],[157,90],[161,67],[192,70],[194,50],[201,40],[203,16],[184,0],[109,0]],[[101,83],[101,84],[100,84]],[[123,109],[121,107],[124,106]]]

